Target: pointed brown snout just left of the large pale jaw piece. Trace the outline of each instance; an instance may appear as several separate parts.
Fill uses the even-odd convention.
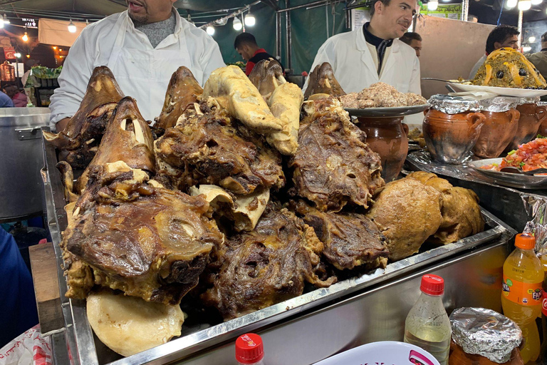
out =
[[[199,86],[192,71],[184,66],[177,68],[167,86],[162,113],[156,118],[154,128],[163,134],[167,128],[174,127],[179,116],[189,105],[196,103],[202,93],[203,88]]]

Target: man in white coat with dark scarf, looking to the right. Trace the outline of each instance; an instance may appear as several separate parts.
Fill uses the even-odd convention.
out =
[[[370,22],[328,38],[311,71],[323,62],[330,63],[346,93],[358,93],[382,81],[401,93],[421,94],[420,61],[412,48],[397,39],[410,27],[415,13],[416,0],[374,0]],[[303,89],[307,86],[308,81]]]

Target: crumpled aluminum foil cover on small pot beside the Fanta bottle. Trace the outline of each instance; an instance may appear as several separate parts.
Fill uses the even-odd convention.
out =
[[[511,319],[484,308],[459,308],[450,314],[452,340],[467,354],[503,364],[522,341],[522,331]]]

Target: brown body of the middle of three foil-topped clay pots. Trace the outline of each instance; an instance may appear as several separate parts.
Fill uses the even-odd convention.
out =
[[[511,140],[513,140],[517,128],[519,128],[519,110],[509,109],[497,113],[481,111],[486,117],[482,126],[481,135],[476,141],[473,153],[481,158],[496,158],[504,152]]]

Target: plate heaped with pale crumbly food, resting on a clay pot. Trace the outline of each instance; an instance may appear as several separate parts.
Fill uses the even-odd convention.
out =
[[[340,96],[344,109],[358,117],[397,117],[422,113],[429,108],[426,98],[400,93],[387,83],[373,83],[359,93]]]

